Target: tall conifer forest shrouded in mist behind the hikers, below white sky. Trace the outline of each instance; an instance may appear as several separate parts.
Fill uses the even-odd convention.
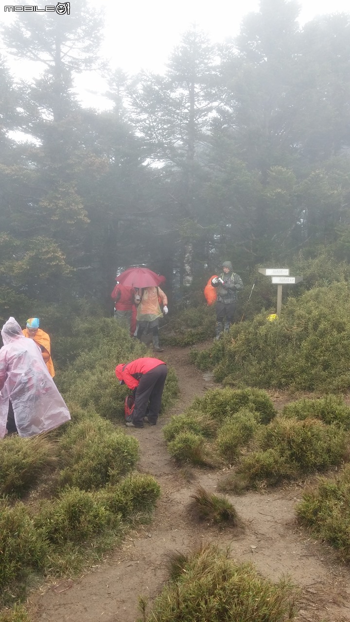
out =
[[[324,249],[348,261],[348,14],[301,29],[296,2],[262,0],[232,43],[194,29],[164,75],[128,77],[103,65],[102,18],[84,8],[22,13],[3,31],[9,58],[45,69],[18,83],[0,64],[1,317],[72,296],[108,309],[130,264],[170,293],[204,287],[222,259],[240,274]],[[109,76],[109,111],[74,95],[91,68]]]

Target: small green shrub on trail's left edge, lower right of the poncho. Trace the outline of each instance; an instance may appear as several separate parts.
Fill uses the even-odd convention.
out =
[[[118,485],[100,491],[99,498],[113,514],[135,520],[141,514],[149,516],[160,494],[161,488],[152,475],[130,473]]]

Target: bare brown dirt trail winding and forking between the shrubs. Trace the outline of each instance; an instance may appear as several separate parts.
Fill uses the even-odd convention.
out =
[[[181,388],[181,398],[169,419],[182,412],[194,395],[202,395],[214,385],[208,374],[189,364],[187,349],[167,348],[163,360],[176,369]],[[35,622],[135,622],[138,596],[151,600],[166,580],[167,552],[186,551],[201,541],[230,545],[235,559],[253,560],[263,575],[273,580],[291,575],[301,590],[298,622],[350,621],[349,570],[336,562],[330,549],[311,540],[296,525],[293,508],[302,487],[230,496],[244,523],[239,533],[199,527],[189,519],[187,503],[198,485],[215,491],[220,473],[193,470],[194,480],[187,483],[166,452],[165,422],[128,430],[140,440],[140,469],[156,476],[163,491],[153,524],[130,534],[100,567],[74,582],[44,587],[42,594],[33,596]]]

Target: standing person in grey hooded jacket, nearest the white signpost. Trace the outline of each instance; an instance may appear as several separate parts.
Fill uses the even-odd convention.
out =
[[[223,331],[229,332],[237,307],[237,292],[243,289],[242,279],[233,271],[230,261],[222,263],[222,270],[220,276],[212,279],[212,286],[217,287],[215,340]]]

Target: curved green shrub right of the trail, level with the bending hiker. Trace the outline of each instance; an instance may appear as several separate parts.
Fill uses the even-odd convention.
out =
[[[209,389],[204,397],[194,399],[192,407],[219,421],[243,407],[256,412],[257,420],[263,424],[267,424],[276,415],[272,399],[266,391],[259,389]]]

